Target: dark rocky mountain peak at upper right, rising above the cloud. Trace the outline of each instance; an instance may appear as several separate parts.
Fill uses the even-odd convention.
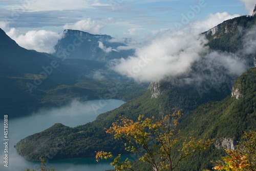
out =
[[[229,19],[220,25],[204,32],[209,40],[208,46],[212,50],[225,51],[227,53],[237,53],[238,56],[248,56],[248,65],[253,64],[255,51],[253,51],[256,27],[256,16],[240,16]],[[254,55],[251,57],[251,55]]]

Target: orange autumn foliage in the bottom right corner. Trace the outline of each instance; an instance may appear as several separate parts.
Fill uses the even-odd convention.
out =
[[[222,160],[213,162],[215,164],[213,169],[221,171],[256,171],[256,131],[245,131],[243,139],[237,145],[236,150],[225,150],[228,155],[222,157]]]

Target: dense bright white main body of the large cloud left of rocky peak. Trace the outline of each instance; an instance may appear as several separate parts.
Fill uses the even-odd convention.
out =
[[[161,35],[138,48],[136,56],[121,59],[113,69],[136,81],[160,81],[189,70],[191,64],[206,51],[207,40],[193,34]]]

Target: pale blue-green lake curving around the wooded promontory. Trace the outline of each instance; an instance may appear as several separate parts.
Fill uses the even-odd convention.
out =
[[[37,132],[44,131],[56,123],[69,127],[84,125],[96,119],[104,112],[118,108],[124,101],[121,100],[93,100],[78,102],[74,100],[70,105],[49,109],[41,109],[38,113],[8,120],[8,167],[4,166],[4,123],[0,123],[0,170],[23,171],[26,168],[34,168],[39,171],[40,162],[27,161],[18,154],[14,145],[20,140]],[[102,171],[112,169],[108,161],[96,162],[91,159],[56,160],[47,163],[47,167],[53,165],[58,171]]]

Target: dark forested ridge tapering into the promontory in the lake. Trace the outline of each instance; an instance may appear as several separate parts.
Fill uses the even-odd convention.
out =
[[[160,88],[166,88],[165,84],[161,84]],[[224,93],[217,92],[214,89],[211,91],[211,93],[201,98],[193,86],[171,87],[155,98],[152,97],[152,89],[149,89],[143,95],[121,107],[99,115],[92,123],[71,128],[72,133],[66,134],[64,133],[65,130],[63,130],[64,132],[55,131],[55,127],[53,127],[51,132],[45,130],[20,140],[16,144],[16,149],[28,160],[39,160],[44,154],[48,154],[50,149],[54,148],[54,144],[65,140],[67,143],[58,149],[57,155],[50,159],[94,157],[94,152],[101,150],[112,151],[113,154],[125,154],[122,143],[116,141],[112,135],[106,134],[104,131],[104,128],[111,127],[112,123],[119,119],[119,116],[124,115],[131,119],[137,119],[139,114],[144,114],[150,117],[159,112],[165,112],[168,106],[183,109],[187,116],[205,102],[223,99]],[[54,134],[53,139],[48,138],[49,133]],[[37,144],[44,141],[44,139],[47,139],[48,143],[44,148],[40,148]],[[45,157],[49,158],[49,156]]]

